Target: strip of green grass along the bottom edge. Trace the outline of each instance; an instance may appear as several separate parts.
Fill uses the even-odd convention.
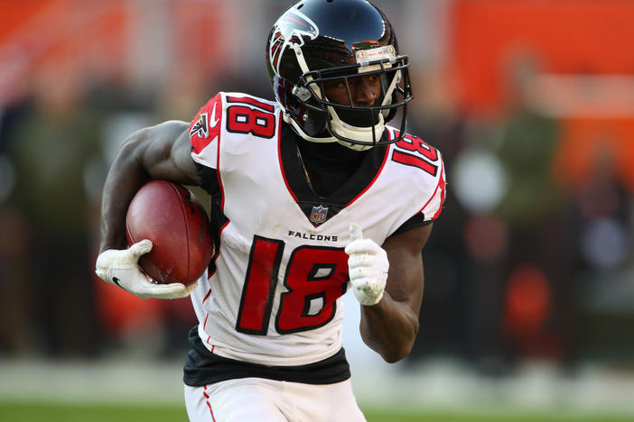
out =
[[[625,422],[632,417],[555,415],[546,413],[480,413],[365,411],[368,422]],[[3,422],[174,422],[187,421],[182,406],[116,406],[0,402]],[[219,421],[220,422],[220,421]],[[245,421],[251,422],[251,421]]]

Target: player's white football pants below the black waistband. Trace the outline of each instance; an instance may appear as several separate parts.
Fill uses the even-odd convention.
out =
[[[185,385],[191,422],[365,422],[350,380],[313,385],[243,378]]]

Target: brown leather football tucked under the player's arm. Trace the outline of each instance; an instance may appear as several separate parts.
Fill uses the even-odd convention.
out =
[[[136,192],[126,215],[129,245],[149,239],[152,251],[139,265],[158,283],[191,284],[209,266],[213,254],[210,220],[188,189],[153,180]]]

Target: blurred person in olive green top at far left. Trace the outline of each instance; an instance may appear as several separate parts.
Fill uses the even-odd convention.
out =
[[[30,234],[21,252],[28,263],[24,293],[33,307],[33,352],[51,356],[98,348],[89,242],[97,209],[88,201],[85,176],[98,154],[100,126],[77,80],[71,69],[42,67],[33,79],[33,107],[6,140],[15,172],[11,203]]]

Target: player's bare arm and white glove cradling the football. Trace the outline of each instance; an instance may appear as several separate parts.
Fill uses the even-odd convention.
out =
[[[136,191],[151,179],[198,185],[188,136],[189,125],[170,121],[133,133],[122,145],[107,174],[101,203],[101,243],[95,272],[140,298],[183,298],[196,284],[155,284],[137,265],[152,243],[126,249],[126,212]]]

